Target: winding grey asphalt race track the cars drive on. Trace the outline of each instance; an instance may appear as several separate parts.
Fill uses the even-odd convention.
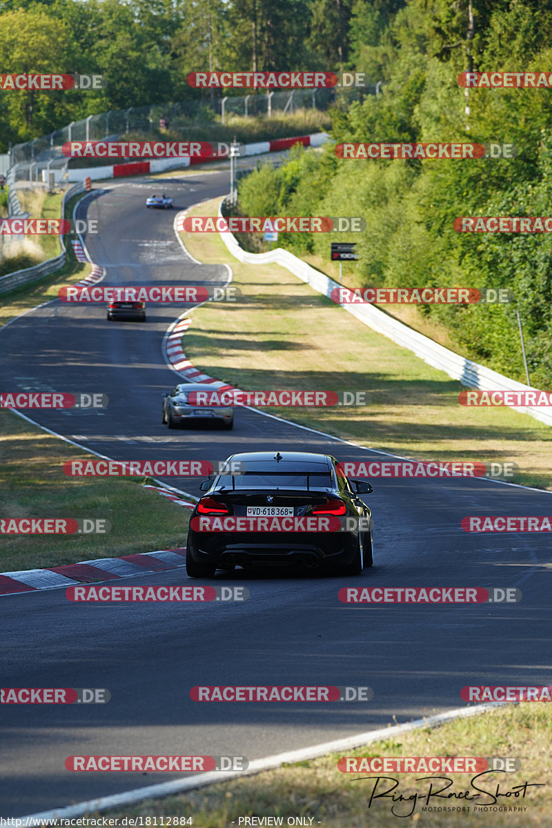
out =
[[[225,267],[185,256],[173,231],[175,211],[146,210],[146,194],[161,188],[175,209],[185,209],[227,192],[228,173],[113,183],[94,192],[84,209],[98,219],[100,233],[86,243],[107,270],[103,284],[226,282]],[[115,460],[223,460],[242,450],[385,459],[245,409],[237,410],[231,432],[168,431],[161,392],[178,375],[161,344],[182,310],[149,305],[146,324],[108,323],[104,306],[55,301],[31,311],[0,331],[2,388],[107,393],[103,412],[29,415]],[[166,482],[199,493],[199,479]],[[356,579],[218,574],[221,584],[247,585],[244,604],[73,604],[62,589],[0,598],[2,686],[106,687],[112,696],[107,705],[2,705],[0,814],[32,814],[178,776],[70,773],[65,758],[75,753],[252,760],[376,729],[394,715],[404,722],[463,707],[460,690],[468,684],[548,683],[548,537],[469,535],[460,521],[470,514],[547,514],[550,494],[481,479],[372,483],[366,502],[376,524],[375,566]],[[172,570],[118,583],[186,580],[185,570]],[[338,601],[344,585],[510,586],[523,599],[354,606]],[[199,684],[368,685],[374,698],[199,704],[190,700],[190,688]]]

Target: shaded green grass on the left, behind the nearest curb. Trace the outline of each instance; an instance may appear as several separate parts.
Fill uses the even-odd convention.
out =
[[[77,449],[0,410],[0,514],[108,520],[108,534],[3,535],[0,572],[91,561],[185,546],[190,510],[139,485],[144,479],[66,477]],[[151,482],[151,481],[150,481]]]

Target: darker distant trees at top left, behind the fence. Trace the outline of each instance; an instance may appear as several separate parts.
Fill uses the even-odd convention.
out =
[[[0,144],[110,109],[197,97],[204,70],[340,70],[356,64],[389,14],[365,0],[4,0],[4,73],[104,75],[105,89],[3,92]],[[232,91],[225,94],[233,94]],[[243,89],[234,94],[244,94]]]

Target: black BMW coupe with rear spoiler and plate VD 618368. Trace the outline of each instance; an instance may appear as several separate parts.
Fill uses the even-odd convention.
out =
[[[372,566],[372,513],[363,480],[348,480],[331,455],[255,451],[232,455],[204,480],[190,517],[186,571],[257,566],[324,567],[360,575]]]

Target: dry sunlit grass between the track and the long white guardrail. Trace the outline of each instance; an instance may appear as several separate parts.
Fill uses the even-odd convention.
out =
[[[218,199],[190,215],[214,215]],[[188,359],[243,390],[365,391],[367,405],[270,412],[360,445],[420,460],[512,462],[514,482],[552,488],[552,430],[507,407],[466,408],[462,386],[368,328],[278,265],[234,259],[218,234],[182,233],[201,262],[228,262],[236,305],[194,311]],[[362,458],[359,458],[362,459]]]

